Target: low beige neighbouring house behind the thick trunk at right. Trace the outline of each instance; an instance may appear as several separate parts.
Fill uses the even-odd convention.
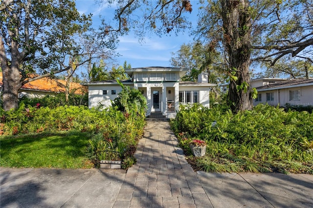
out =
[[[273,106],[313,105],[313,79],[268,79],[271,82],[263,85],[251,85],[258,91],[258,97],[253,100],[253,105],[265,104]]]

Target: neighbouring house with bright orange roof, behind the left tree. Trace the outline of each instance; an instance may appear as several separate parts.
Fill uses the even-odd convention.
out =
[[[35,75],[36,76],[36,75]],[[2,72],[0,72],[0,92],[2,91]],[[42,78],[29,83],[24,84],[19,89],[19,98],[24,96],[28,98],[41,98],[45,95],[55,95],[56,93],[65,92],[64,80],[54,80],[49,78]],[[80,83],[70,83],[69,92],[74,94],[84,94],[86,87]]]

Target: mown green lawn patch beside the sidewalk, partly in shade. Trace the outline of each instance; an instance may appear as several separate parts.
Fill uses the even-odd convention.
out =
[[[0,166],[92,168],[89,133],[79,131],[0,137]]]

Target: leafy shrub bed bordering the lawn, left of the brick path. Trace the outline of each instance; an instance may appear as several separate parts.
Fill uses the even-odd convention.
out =
[[[143,108],[142,108],[143,109]],[[87,132],[88,158],[97,165],[100,160],[121,160],[123,168],[135,163],[137,142],[143,134],[144,113],[122,112],[117,106],[103,111],[87,106],[32,107],[20,104],[16,110],[0,109],[4,135],[44,132]]]

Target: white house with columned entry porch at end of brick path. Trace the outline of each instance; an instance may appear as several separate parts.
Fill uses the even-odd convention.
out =
[[[143,67],[126,69],[131,80],[124,85],[141,90],[147,98],[147,116],[160,112],[167,118],[175,118],[179,103],[201,103],[210,107],[209,91],[216,84],[207,83],[207,75],[200,74],[198,83],[180,82],[188,71],[186,68]],[[111,105],[122,90],[116,81],[83,83],[89,89],[89,108],[99,104]]]

